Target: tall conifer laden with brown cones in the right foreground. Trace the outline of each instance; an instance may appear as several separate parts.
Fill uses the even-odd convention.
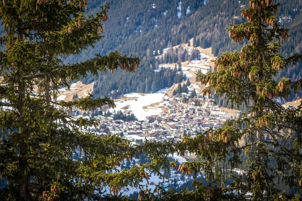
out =
[[[234,42],[249,43],[241,52],[222,53],[215,60],[215,72],[199,75],[199,80],[208,85],[204,95],[211,91],[225,94],[232,107],[244,103],[249,113],[206,132],[201,155],[215,164],[210,178],[222,181],[222,191],[229,191],[222,197],[284,200],[296,195],[298,200],[302,185],[302,104],[290,109],[282,103],[291,91],[302,89],[302,80],[274,77],[302,56],[284,58],[278,54],[281,41],[289,37],[288,30],[277,23],[280,5],[272,0],[249,2],[251,8],[241,11],[247,22],[228,29]],[[242,169],[238,177],[229,170],[235,167]],[[234,181],[223,187],[227,176]]]

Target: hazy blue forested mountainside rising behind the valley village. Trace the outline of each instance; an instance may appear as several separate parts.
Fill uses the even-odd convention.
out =
[[[281,54],[288,56],[294,52],[301,53],[302,2],[279,2],[281,9],[277,15],[281,17],[280,25],[289,28],[292,36],[287,42],[283,42]],[[95,44],[95,49],[84,50],[81,55],[66,58],[65,62],[78,62],[97,53],[107,54],[115,50],[138,56],[142,61],[141,68],[131,75],[117,71],[114,74],[107,72],[98,77],[89,75],[85,78],[84,83],[95,81],[95,97],[113,96],[113,93],[116,97],[130,91],[155,92],[154,90],[171,86],[172,82],[179,79],[174,79],[176,75],[173,77],[173,70],[170,69],[163,73],[155,72],[154,69],[161,62],[155,56],[161,54],[164,48],[187,43],[190,38],[194,37],[198,41],[195,46],[212,47],[215,56],[226,50],[240,50],[239,47],[247,42],[233,43],[225,29],[230,22],[239,24],[244,21],[240,10],[247,8],[247,0],[91,0],[88,1],[89,14],[98,12],[100,5],[108,3],[111,8],[109,20],[104,27],[104,39]],[[300,79],[300,68],[300,65],[290,67],[280,72],[279,77],[287,74],[293,79]],[[167,81],[163,83],[161,80]]]

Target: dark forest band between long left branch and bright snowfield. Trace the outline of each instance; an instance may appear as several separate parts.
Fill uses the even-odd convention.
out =
[[[154,60],[154,59],[153,59]],[[145,62],[141,62],[144,65]],[[138,91],[143,93],[157,92],[158,90],[170,87],[173,83],[180,83],[186,80],[186,75],[177,69],[163,68],[156,72],[152,68],[137,70],[136,73],[117,71],[115,74],[107,72],[98,77],[87,77],[83,83],[94,82],[94,97],[104,95],[117,98],[121,94]],[[104,84],[106,83],[106,84]]]

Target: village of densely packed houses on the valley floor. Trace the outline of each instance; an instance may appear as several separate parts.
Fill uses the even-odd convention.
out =
[[[202,106],[196,107],[194,103],[183,104],[181,98],[173,97],[159,107],[163,109],[163,113],[149,116],[144,121],[126,122],[114,120],[112,117],[95,116],[93,118],[98,119],[100,125],[98,128],[92,127],[89,130],[96,131],[100,135],[108,132],[120,135],[132,143],[145,140],[177,141],[186,135],[194,137],[209,128],[219,128],[229,118],[236,118],[228,113],[220,112],[214,106],[212,99],[204,99]],[[124,113],[129,115],[128,111]]]

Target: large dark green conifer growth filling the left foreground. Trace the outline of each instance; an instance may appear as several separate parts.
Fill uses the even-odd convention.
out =
[[[60,86],[69,89],[72,80],[87,72],[113,73],[118,67],[134,72],[139,67],[138,58],[119,52],[82,63],[62,62],[62,57],[78,54],[103,37],[108,8],[85,16],[86,0],[0,4],[4,27],[0,42],[5,47],[0,51],[1,200],[100,199],[102,185],[110,183],[106,172],[120,164],[116,157],[131,156],[124,155],[125,140],[82,132],[98,126],[95,120],[68,117],[68,111],[76,108],[114,107],[111,99],[57,99]]]

